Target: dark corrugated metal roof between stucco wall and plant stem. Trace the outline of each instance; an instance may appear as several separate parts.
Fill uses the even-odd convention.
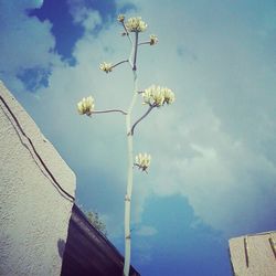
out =
[[[74,204],[63,253],[62,276],[121,276],[124,257]],[[131,276],[140,274],[130,268]]]

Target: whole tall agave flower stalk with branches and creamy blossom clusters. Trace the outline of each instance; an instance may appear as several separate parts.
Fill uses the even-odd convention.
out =
[[[130,236],[130,214],[131,214],[131,197],[132,197],[132,185],[134,185],[134,167],[138,167],[141,171],[148,173],[147,169],[150,166],[151,157],[148,153],[139,153],[134,159],[134,134],[136,126],[145,119],[151,110],[157,107],[161,107],[164,104],[170,105],[174,102],[174,94],[171,89],[162,86],[151,85],[144,91],[138,89],[138,74],[137,74],[137,53],[138,46],[142,44],[155,45],[158,42],[156,35],[151,34],[149,41],[139,43],[139,33],[146,31],[147,24],[141,20],[141,18],[130,18],[125,21],[125,15],[118,15],[118,22],[121,23],[125,35],[127,35],[130,44],[131,51],[129,57],[116,64],[104,62],[99,65],[99,68],[105,73],[112,73],[115,67],[124,63],[129,63],[132,77],[134,77],[134,88],[132,97],[127,110],[123,109],[105,109],[96,110],[95,100],[92,96],[84,97],[77,104],[77,110],[79,115],[87,115],[91,117],[94,114],[107,114],[107,113],[120,113],[126,116],[126,136],[127,136],[127,189],[125,195],[125,263],[124,263],[124,276],[129,276],[130,268],[130,247],[131,247],[131,236]],[[134,33],[134,38],[130,35]],[[148,105],[148,109],[141,115],[135,123],[132,123],[132,110],[137,100],[137,96],[141,95],[145,105]]]

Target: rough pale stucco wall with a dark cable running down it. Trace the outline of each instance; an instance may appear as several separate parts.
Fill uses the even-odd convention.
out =
[[[0,82],[0,95],[59,184],[75,193],[75,174]],[[54,183],[0,99],[0,275],[60,275],[73,201]]]

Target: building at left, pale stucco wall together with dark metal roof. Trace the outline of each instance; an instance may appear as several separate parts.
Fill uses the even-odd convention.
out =
[[[74,172],[0,82],[0,275],[121,276],[123,256],[74,204],[75,189]]]

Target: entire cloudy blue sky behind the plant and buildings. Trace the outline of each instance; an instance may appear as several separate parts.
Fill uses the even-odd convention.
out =
[[[141,275],[231,275],[227,240],[276,229],[276,2],[273,0],[0,1],[0,78],[77,177],[76,198],[124,246],[126,137],[119,115],[131,72],[98,70],[128,56],[117,14],[140,15],[156,46],[139,50],[139,86],[177,102],[137,129],[132,259]],[[135,116],[145,109],[136,107]]]

